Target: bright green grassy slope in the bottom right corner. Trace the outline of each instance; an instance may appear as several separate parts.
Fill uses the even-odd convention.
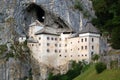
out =
[[[94,65],[73,80],[120,80],[120,69],[105,70],[96,73]]]

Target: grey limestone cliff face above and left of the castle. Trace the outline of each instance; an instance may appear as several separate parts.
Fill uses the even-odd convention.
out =
[[[81,3],[83,11],[74,8],[76,1]],[[87,17],[85,14],[88,14]],[[0,0],[0,44],[10,42],[14,45],[19,35],[27,35],[29,25],[36,19],[54,33],[77,33],[92,17],[95,15],[89,0]],[[0,80],[29,77],[31,68],[34,80],[42,80],[40,72],[35,71],[39,67],[29,65],[14,57],[7,61],[0,58]]]

